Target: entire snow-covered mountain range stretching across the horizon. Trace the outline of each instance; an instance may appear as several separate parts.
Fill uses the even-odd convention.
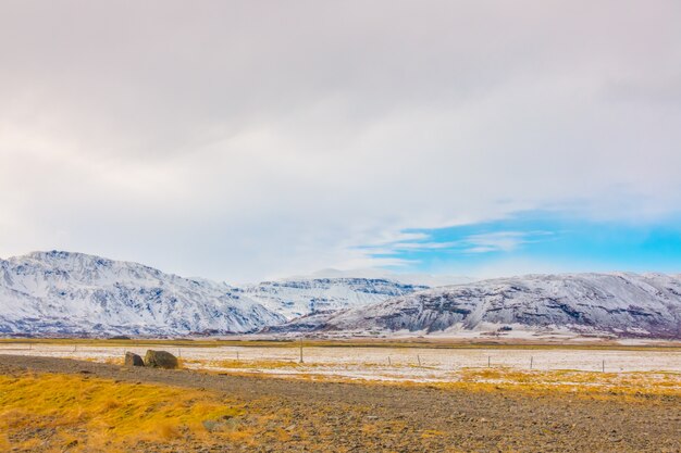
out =
[[[428,288],[382,278],[243,288],[50,251],[0,260],[0,335],[458,335],[495,329],[681,338],[681,275],[530,274]]]

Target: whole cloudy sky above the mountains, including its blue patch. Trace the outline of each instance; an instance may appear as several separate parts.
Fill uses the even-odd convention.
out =
[[[681,2],[0,2],[0,256],[681,272]]]

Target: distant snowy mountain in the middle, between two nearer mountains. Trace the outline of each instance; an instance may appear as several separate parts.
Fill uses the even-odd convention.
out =
[[[382,278],[313,278],[263,281],[244,292],[269,310],[293,319],[315,312],[369,305],[426,289]]]

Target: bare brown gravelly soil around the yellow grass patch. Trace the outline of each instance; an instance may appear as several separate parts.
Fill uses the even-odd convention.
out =
[[[274,414],[253,431],[262,435],[247,443],[209,448],[188,441],[136,451],[681,452],[681,398],[674,395],[620,399],[311,382],[0,355],[0,374],[27,370],[206,389],[247,411]],[[243,423],[256,421],[246,416]]]

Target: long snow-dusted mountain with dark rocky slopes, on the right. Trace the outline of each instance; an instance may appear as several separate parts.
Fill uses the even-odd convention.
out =
[[[271,330],[455,335],[499,328],[679,339],[681,276],[572,274],[483,280],[305,316]]]

